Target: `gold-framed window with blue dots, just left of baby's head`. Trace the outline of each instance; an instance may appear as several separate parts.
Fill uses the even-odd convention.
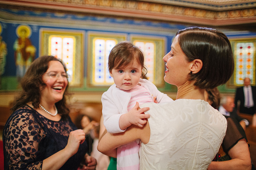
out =
[[[108,70],[108,57],[112,48],[126,40],[124,34],[88,33],[88,85],[111,86],[114,81]]]

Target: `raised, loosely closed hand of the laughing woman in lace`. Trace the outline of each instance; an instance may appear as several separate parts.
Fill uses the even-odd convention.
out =
[[[80,146],[85,140],[85,133],[82,129],[77,129],[72,132],[70,132],[67,145],[64,149],[68,151],[68,153],[71,153],[73,156]]]

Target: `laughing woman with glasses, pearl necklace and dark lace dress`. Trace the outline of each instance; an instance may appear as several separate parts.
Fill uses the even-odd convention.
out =
[[[95,169],[85,133],[68,116],[65,64],[37,58],[21,80],[22,92],[3,129],[4,169]]]

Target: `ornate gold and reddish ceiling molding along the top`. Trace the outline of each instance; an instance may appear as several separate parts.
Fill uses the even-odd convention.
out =
[[[0,4],[5,8],[49,9],[209,26],[256,23],[256,2],[252,0],[0,0]]]

